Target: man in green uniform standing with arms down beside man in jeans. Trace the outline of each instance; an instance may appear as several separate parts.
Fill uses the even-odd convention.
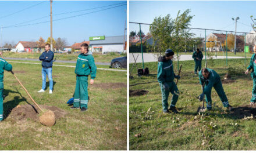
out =
[[[81,108],[81,111],[86,111],[88,108],[88,75],[91,75],[90,83],[93,85],[97,70],[93,55],[88,51],[88,48],[87,43],[81,45],[81,54],[77,58],[76,69],[74,70],[76,89],[74,91],[74,103],[70,108]]]

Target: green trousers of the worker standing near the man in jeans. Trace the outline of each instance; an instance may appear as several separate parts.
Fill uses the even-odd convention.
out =
[[[86,107],[88,104],[88,77],[76,76],[76,89],[74,90],[74,104],[73,107]]]

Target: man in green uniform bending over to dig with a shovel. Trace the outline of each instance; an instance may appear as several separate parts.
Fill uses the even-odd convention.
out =
[[[216,71],[210,68],[203,68],[198,73],[198,77],[203,89],[203,92],[200,94],[199,99],[200,101],[202,101],[204,99],[204,94],[205,94],[206,102],[207,102],[207,110],[212,110],[212,99],[211,99],[212,87],[214,87],[214,89],[218,93],[223,106],[226,107],[227,110],[229,111],[232,110],[232,106],[229,105],[229,101],[227,100],[226,94],[222,87],[221,78],[219,77]]]

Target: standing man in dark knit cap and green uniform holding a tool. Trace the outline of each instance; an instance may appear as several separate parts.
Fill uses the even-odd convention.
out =
[[[173,82],[174,78],[179,79],[179,75],[175,75],[173,72],[173,59],[174,52],[171,49],[167,49],[165,51],[165,56],[159,57],[158,61],[158,72],[157,79],[159,85],[161,87],[162,92],[162,107],[164,113],[169,113],[170,111],[177,113],[175,108],[175,104],[179,98],[179,89],[177,88],[175,82]],[[170,108],[168,110],[168,97],[169,93],[172,93],[172,103],[170,104]]]

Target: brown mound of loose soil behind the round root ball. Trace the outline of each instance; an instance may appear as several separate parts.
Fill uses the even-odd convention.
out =
[[[62,118],[67,114],[67,112],[59,109],[58,107],[54,106],[48,106],[48,105],[40,105],[40,107],[43,110],[51,110],[55,114],[55,118]],[[35,110],[36,109],[36,110]],[[39,115],[37,113],[37,110],[39,109],[37,107],[34,107],[32,105],[26,104],[26,105],[17,105],[17,107],[13,108],[10,112],[9,116],[7,118],[12,118],[15,121],[20,121],[23,119],[32,119],[33,121],[39,121]]]

